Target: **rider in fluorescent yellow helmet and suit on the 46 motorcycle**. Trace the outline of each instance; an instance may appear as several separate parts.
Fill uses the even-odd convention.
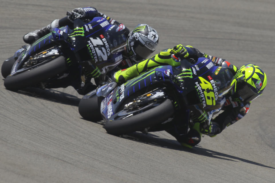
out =
[[[198,57],[206,57],[216,66],[227,67],[234,77],[231,79],[230,91],[225,95],[225,103],[221,107],[221,112],[214,119],[207,120],[201,111],[197,116],[193,116],[194,126],[184,135],[185,128],[180,122],[175,122],[174,126],[167,129],[166,132],[174,136],[182,146],[192,148],[201,141],[202,134],[214,137],[221,133],[226,127],[234,124],[243,118],[251,105],[251,101],[262,95],[267,84],[267,77],[264,71],[257,65],[246,64],[240,68],[229,63],[225,59],[213,57],[206,53],[201,53],[192,46],[176,45],[173,49],[164,49],[153,57],[137,63],[127,69],[117,71],[113,79],[118,83],[124,83],[139,74],[142,74],[159,65],[180,66],[179,59],[187,59],[195,63]],[[194,109],[196,110],[196,109]],[[201,115],[200,117],[198,117]]]

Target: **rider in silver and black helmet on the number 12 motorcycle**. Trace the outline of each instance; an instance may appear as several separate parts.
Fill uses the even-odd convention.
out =
[[[138,24],[131,32],[125,25],[117,22],[116,20],[108,17],[107,15],[100,13],[94,7],[75,8],[72,12],[67,12],[67,16],[62,19],[55,19],[46,27],[31,31],[23,36],[25,43],[31,44],[34,41],[42,38],[50,33],[54,28],[60,28],[68,25],[72,27],[74,20],[81,19],[84,22],[89,23],[94,17],[103,17],[107,19],[111,25],[119,26],[119,31],[123,31],[126,39],[126,46],[123,49],[120,69],[127,68],[146,59],[151,53],[156,50],[158,45],[159,36],[155,29],[147,24]],[[120,49],[120,50],[121,50]],[[114,61],[117,62],[117,61]],[[82,79],[80,89],[77,89],[79,94],[86,94],[87,92],[95,89],[95,85],[92,85],[91,78],[95,78],[96,83],[103,83],[105,81],[105,70],[98,69],[91,66],[89,61],[83,61],[81,65],[84,67],[82,71]],[[85,84],[83,84],[85,83]]]

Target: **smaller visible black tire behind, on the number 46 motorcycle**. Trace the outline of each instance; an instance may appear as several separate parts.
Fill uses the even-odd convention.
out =
[[[101,100],[97,96],[81,99],[78,104],[78,112],[85,120],[92,122],[101,121],[100,104]]]

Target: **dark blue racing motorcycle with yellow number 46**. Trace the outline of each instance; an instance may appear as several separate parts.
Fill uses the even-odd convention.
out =
[[[158,66],[119,86],[98,87],[80,100],[79,113],[93,122],[103,119],[114,135],[162,131],[178,122],[187,133],[194,120],[209,123],[225,103],[233,73],[205,57],[180,64]]]

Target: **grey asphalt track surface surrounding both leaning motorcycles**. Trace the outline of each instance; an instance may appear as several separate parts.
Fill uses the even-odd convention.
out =
[[[78,114],[72,87],[11,92],[0,80],[0,182],[275,182],[274,0],[0,0],[0,64],[22,36],[94,6],[133,29],[154,27],[156,53],[179,43],[268,76],[245,118],[215,138],[181,147],[166,132],[117,137]]]

